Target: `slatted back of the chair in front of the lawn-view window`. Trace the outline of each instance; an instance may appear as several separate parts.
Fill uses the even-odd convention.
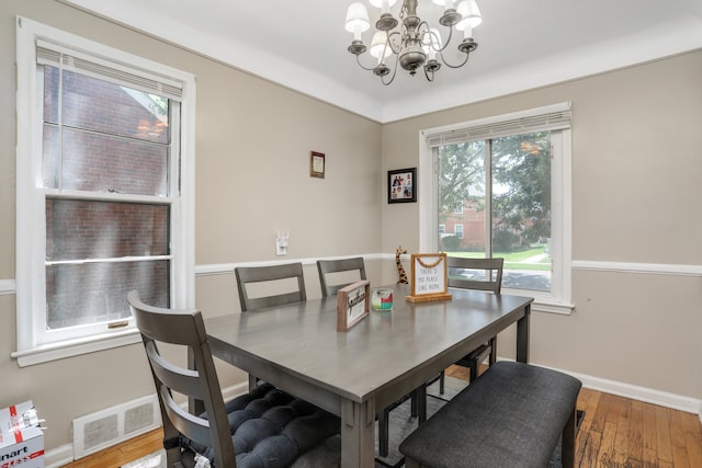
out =
[[[500,294],[505,259],[449,256],[446,266],[449,269],[449,287]]]

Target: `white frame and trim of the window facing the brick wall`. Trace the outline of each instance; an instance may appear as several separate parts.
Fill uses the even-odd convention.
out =
[[[193,308],[195,304],[194,255],[195,255],[195,89],[192,73],[181,71],[152,60],[132,55],[83,37],[16,16],[16,230],[32,232],[32,236],[16,237],[16,272],[14,293],[16,295],[16,346],[13,353],[20,365],[37,364],[114,346],[136,342],[121,333],[104,333],[103,324],[87,324],[78,328],[47,332],[45,323],[45,219],[43,209],[45,195],[56,191],[43,190],[41,181],[42,155],[42,73],[37,72],[37,42],[63,49],[79,50],[93,61],[114,65],[146,79],[155,79],[167,87],[182,88],[182,99],[172,102],[180,106],[180,119],[171,123],[171,132],[181,136],[173,141],[170,158],[169,196],[148,197],[100,195],[91,199],[157,199],[171,208],[171,304],[174,308]],[[148,70],[148,72],[145,72]],[[167,78],[163,78],[167,77]],[[172,98],[171,98],[172,99]],[[177,124],[180,123],[180,127]],[[180,147],[178,146],[180,144]],[[24,181],[24,182],[22,182]],[[180,193],[179,193],[180,191]],[[61,196],[76,195],[64,191]],[[82,197],[84,194],[80,194]],[[109,260],[107,260],[109,261]],[[0,289],[2,294],[4,293]],[[83,333],[84,338],[76,338]],[[94,334],[92,334],[94,333]],[[131,333],[136,333],[132,330]],[[138,341],[138,340],[137,340]]]

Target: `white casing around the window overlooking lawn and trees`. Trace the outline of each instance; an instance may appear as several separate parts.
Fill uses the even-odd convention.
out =
[[[503,281],[502,288],[506,293],[512,293],[518,295],[533,296],[535,299],[534,309],[569,313],[573,309],[570,303],[570,262],[571,262],[571,233],[570,233],[570,104],[562,103],[545,107],[539,107],[534,110],[500,115],[496,117],[488,117],[478,121],[465,122],[455,125],[450,125],[440,128],[427,129],[420,133],[420,161],[419,169],[421,173],[433,174],[432,176],[420,178],[422,186],[419,187],[419,217],[420,217],[420,249],[421,251],[440,251],[444,250],[448,246],[443,246],[443,236],[439,233],[441,224],[450,222],[442,219],[452,217],[446,215],[449,212],[455,210],[455,206],[458,203],[467,204],[469,209],[464,209],[465,218],[462,222],[471,222],[475,220],[476,213],[479,214],[487,207],[487,213],[495,214],[491,209],[490,203],[497,199],[492,191],[499,194],[500,187],[492,187],[491,183],[487,181],[484,185],[487,189],[487,193],[482,194],[483,198],[471,199],[456,199],[449,201],[449,205],[443,208],[443,215],[440,214],[439,208],[442,199],[440,197],[440,149],[442,147],[451,147],[455,145],[471,142],[475,144],[476,151],[483,151],[487,155],[484,159],[485,167],[478,168],[478,171],[484,171],[485,176],[490,179],[495,174],[492,164],[494,150],[490,146],[495,142],[496,146],[502,145],[502,140],[509,140],[509,137],[530,135],[548,136],[551,145],[551,171],[550,181],[551,185],[551,238],[548,239],[548,253],[552,258],[550,284],[547,287],[534,288],[534,289],[511,289],[507,282]],[[528,138],[526,138],[528,139]],[[495,149],[495,151],[498,151]],[[496,160],[496,164],[499,161]],[[548,185],[548,184],[547,184]],[[446,199],[443,199],[444,205]],[[485,207],[483,205],[486,205]],[[485,249],[482,254],[486,256],[492,256],[494,252],[494,239],[496,232],[491,229],[491,222],[495,222],[495,216],[487,217],[485,225],[487,229],[483,236],[476,235],[474,224],[471,222],[464,230],[464,237],[468,235],[471,238],[483,238],[483,248]],[[503,215],[502,215],[503,217]],[[491,218],[491,219],[490,219]],[[482,226],[482,224],[480,224]],[[446,226],[450,230],[450,227]],[[451,240],[455,243],[455,239]],[[467,242],[465,240],[463,242]],[[471,250],[466,248],[466,250]],[[468,254],[471,255],[471,254]],[[506,272],[507,273],[507,272]],[[523,286],[520,286],[523,287]]]

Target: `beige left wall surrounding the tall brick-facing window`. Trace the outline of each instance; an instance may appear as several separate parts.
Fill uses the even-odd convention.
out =
[[[380,124],[50,0],[0,2],[0,279],[14,278],[14,18],[23,15],[197,77],[197,265],[380,252]],[[309,151],[326,153],[324,180]],[[353,222],[349,222],[352,220]],[[378,267],[375,267],[376,270]],[[314,273],[307,269],[307,273]],[[318,279],[308,274],[310,295]],[[238,310],[233,275],[196,282],[205,315]],[[15,300],[0,295],[0,407],[31,398],[50,427],[46,448],[71,443],[71,420],[152,393],[140,344],[19,368]],[[222,369],[223,385],[242,381]]]

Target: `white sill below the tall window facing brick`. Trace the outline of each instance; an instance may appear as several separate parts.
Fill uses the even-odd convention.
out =
[[[39,345],[23,351],[15,351],[11,354],[11,357],[18,359],[18,365],[20,367],[26,367],[81,354],[94,353],[97,351],[126,346],[139,343],[140,341],[141,335],[138,330],[132,329],[122,331],[118,334],[110,333],[80,340]]]

